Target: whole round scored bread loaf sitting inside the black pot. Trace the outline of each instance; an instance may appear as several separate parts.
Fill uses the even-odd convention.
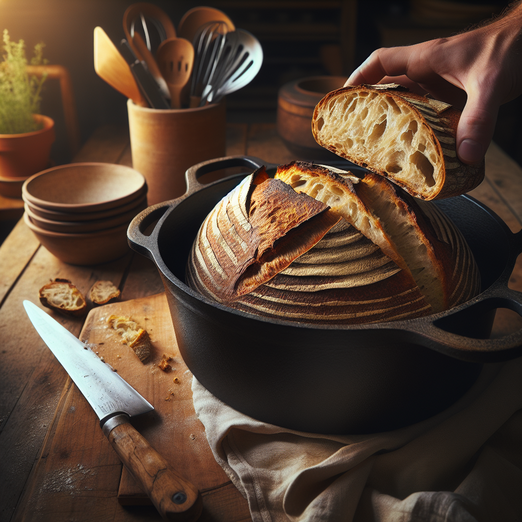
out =
[[[245,312],[315,324],[440,312],[480,291],[473,255],[434,204],[382,176],[262,167],[209,213],[187,284]]]

